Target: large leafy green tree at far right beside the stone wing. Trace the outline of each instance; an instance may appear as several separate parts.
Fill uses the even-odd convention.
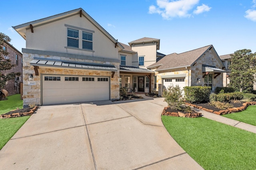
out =
[[[256,53],[252,53],[250,49],[236,51],[231,55],[229,86],[238,92],[252,92],[256,74],[255,68]]]

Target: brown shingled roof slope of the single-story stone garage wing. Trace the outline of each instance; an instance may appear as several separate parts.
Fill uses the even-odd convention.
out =
[[[201,57],[204,54],[206,50],[211,48],[213,48],[213,46],[208,45],[199,49],[194,49],[192,51],[187,51],[180,54],[172,53],[170,55],[166,55],[164,58],[148,66],[147,68],[154,68],[159,66],[156,71],[160,71],[191,66],[195,61],[197,61],[199,57]]]

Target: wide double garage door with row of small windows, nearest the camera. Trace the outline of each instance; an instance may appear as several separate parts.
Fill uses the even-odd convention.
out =
[[[109,100],[109,77],[44,75],[43,104]]]

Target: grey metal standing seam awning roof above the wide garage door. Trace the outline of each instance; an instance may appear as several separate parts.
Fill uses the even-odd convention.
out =
[[[75,69],[89,69],[89,70],[105,70],[117,71],[114,65],[110,64],[97,64],[97,63],[80,63],[72,61],[52,61],[47,59],[34,59],[30,62],[32,66],[50,66],[60,68],[75,68]]]

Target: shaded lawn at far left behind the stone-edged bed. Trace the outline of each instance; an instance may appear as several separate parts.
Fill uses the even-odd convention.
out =
[[[7,97],[8,100],[0,100],[0,115],[7,113],[13,109],[23,108],[23,101],[20,100],[20,94],[14,94]]]

